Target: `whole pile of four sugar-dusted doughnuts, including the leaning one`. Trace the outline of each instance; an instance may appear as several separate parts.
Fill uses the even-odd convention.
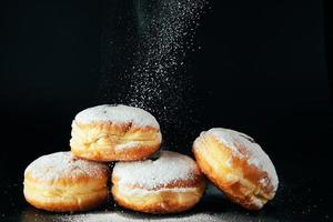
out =
[[[111,198],[134,211],[175,213],[200,201],[206,179],[249,210],[263,208],[275,195],[274,165],[244,133],[223,128],[202,132],[192,147],[195,161],[161,150],[161,142],[157,119],[142,109],[85,109],[72,122],[71,151],[42,155],[28,165],[24,198],[54,212],[91,210]]]

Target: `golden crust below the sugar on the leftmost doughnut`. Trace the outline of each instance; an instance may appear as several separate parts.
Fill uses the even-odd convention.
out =
[[[51,183],[38,181],[30,175],[24,179],[23,194],[34,208],[54,211],[87,211],[108,200],[105,179],[57,180]]]

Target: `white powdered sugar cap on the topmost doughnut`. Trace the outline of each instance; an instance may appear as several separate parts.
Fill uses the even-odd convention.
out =
[[[79,112],[75,121],[80,123],[92,122],[114,122],[114,123],[133,123],[138,127],[153,127],[160,129],[157,119],[149,112],[129,105],[102,104],[85,109]]]

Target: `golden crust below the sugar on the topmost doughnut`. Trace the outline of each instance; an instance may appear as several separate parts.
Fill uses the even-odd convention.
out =
[[[161,132],[153,127],[137,127],[132,123],[117,124],[72,122],[71,151],[74,155],[94,161],[143,160],[161,145]],[[119,149],[125,143],[137,143]]]

